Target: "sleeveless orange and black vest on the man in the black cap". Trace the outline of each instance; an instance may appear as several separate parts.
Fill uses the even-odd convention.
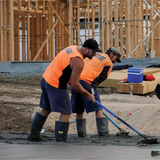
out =
[[[77,51],[77,46],[69,46],[63,49],[50,63],[42,77],[48,84],[55,88],[66,89],[71,77],[70,59],[83,56]]]

